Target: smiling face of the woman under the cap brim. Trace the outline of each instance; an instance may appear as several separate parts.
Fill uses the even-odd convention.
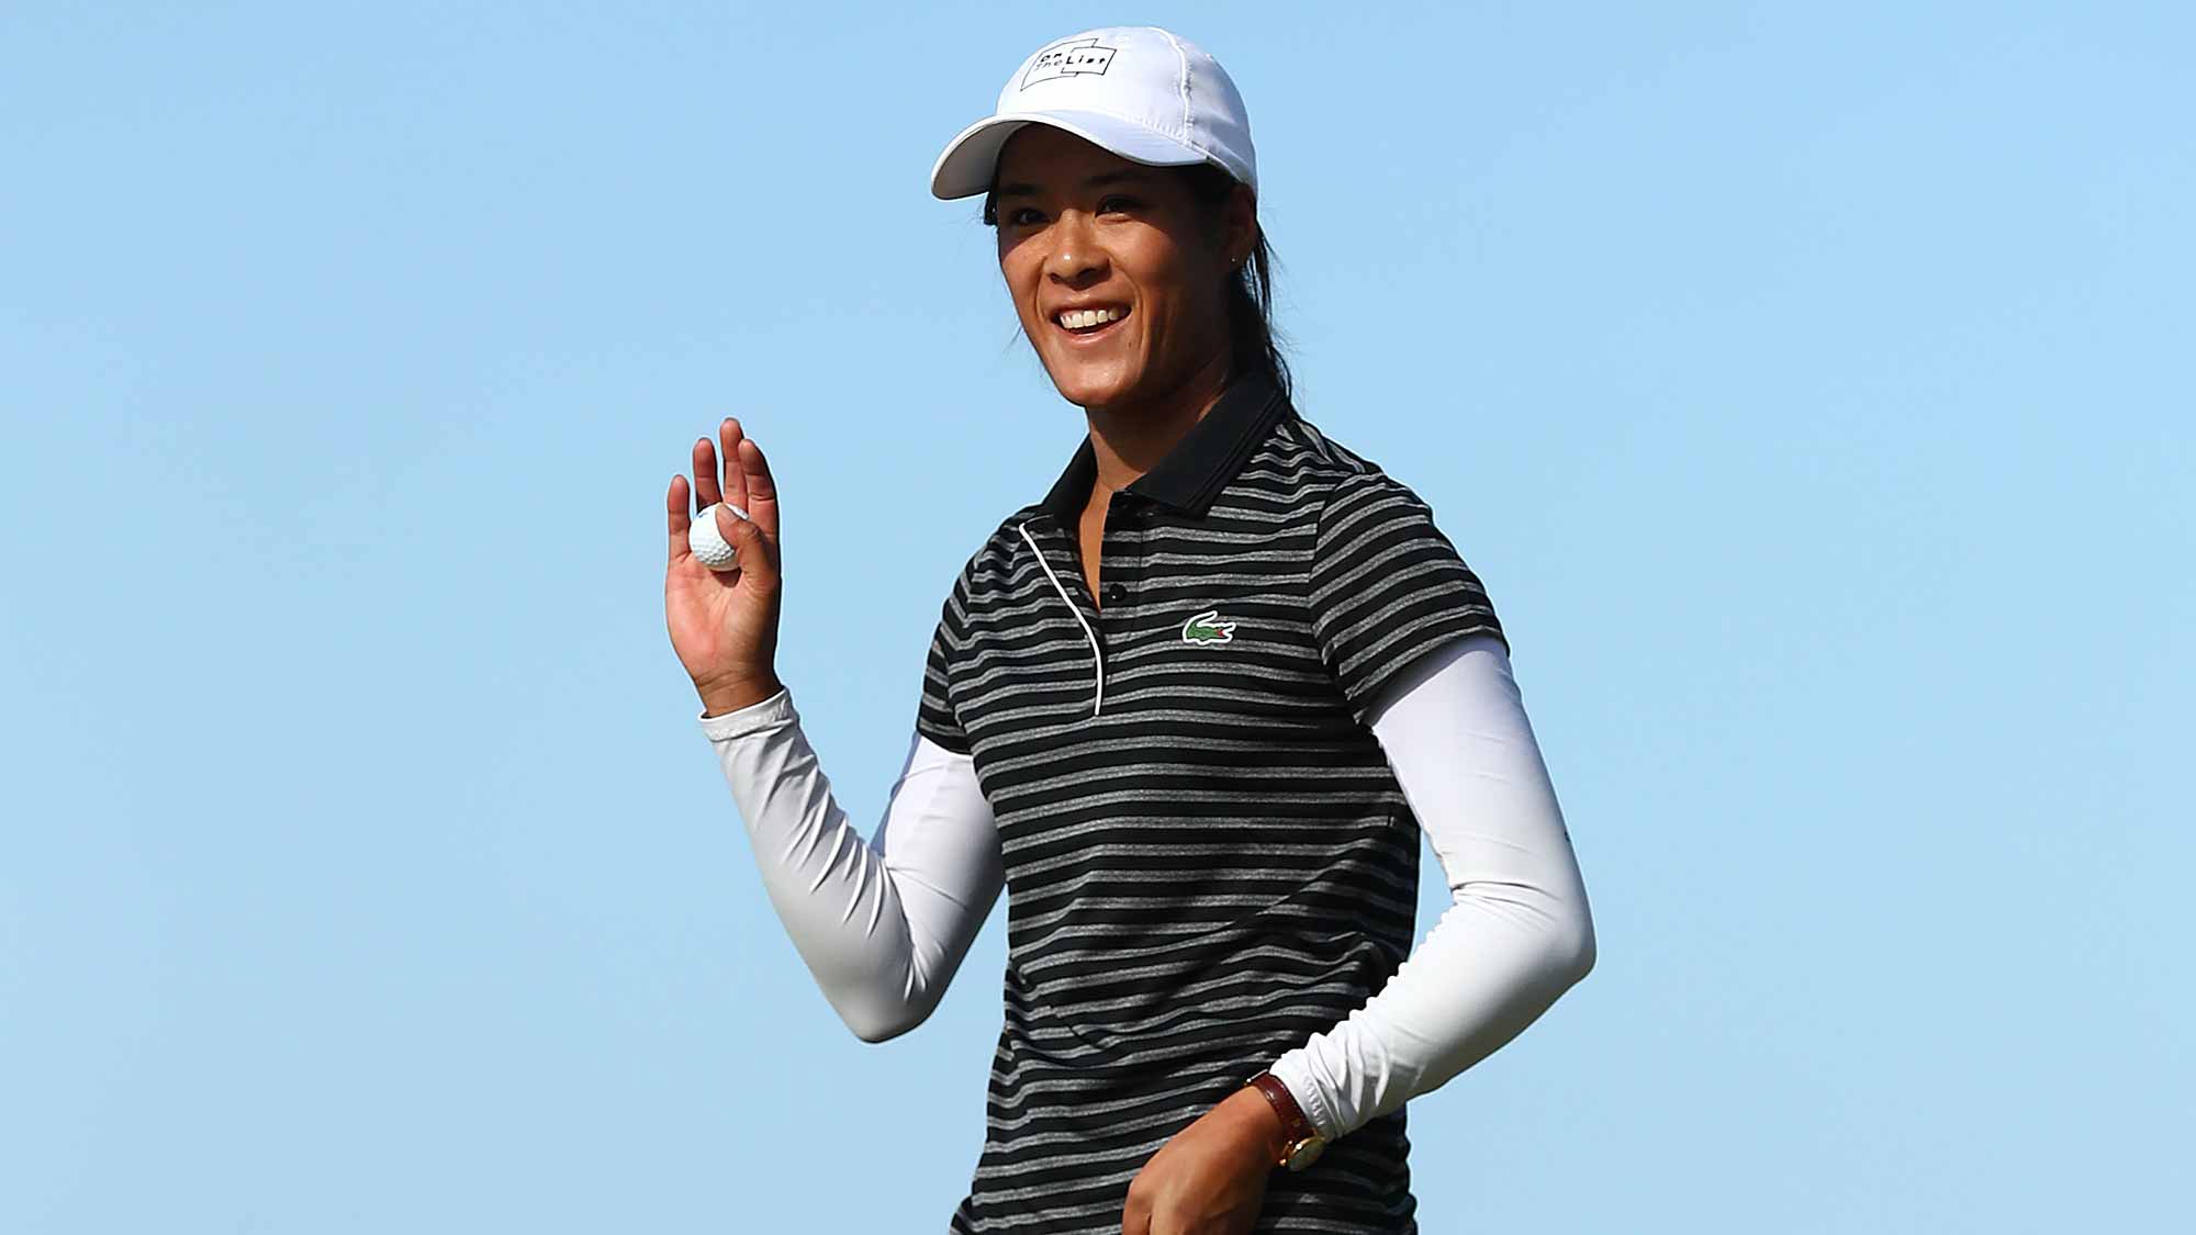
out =
[[[1166,167],[1032,123],[999,152],[995,204],[999,275],[1067,402],[1157,402],[1225,356],[1225,281],[1256,242],[1247,189],[1212,218]]]

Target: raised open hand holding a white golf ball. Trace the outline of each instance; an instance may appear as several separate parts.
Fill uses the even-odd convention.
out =
[[[760,703],[777,694],[777,486],[762,446],[742,435],[736,418],[718,424],[725,444],[722,477],[716,448],[694,440],[694,486],[672,477],[665,494],[670,565],[663,571],[663,622],[672,650],[694,679],[707,714]],[[692,503],[692,505],[690,505]],[[731,503],[747,519],[718,505]],[[716,530],[738,552],[738,565],[714,571],[694,558],[687,530],[694,516],[718,505]]]

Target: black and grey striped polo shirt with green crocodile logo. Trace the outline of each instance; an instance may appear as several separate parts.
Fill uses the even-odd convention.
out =
[[[968,558],[916,727],[999,826],[1004,1024],[955,1233],[1118,1235],[1162,1145],[1410,954],[1419,822],[1364,708],[1434,646],[1502,637],[1427,505],[1234,378],[1111,494],[1089,440]],[[1504,639],[1504,646],[1506,639]],[[1405,1110],[1274,1169],[1256,1231],[1416,1231]]]

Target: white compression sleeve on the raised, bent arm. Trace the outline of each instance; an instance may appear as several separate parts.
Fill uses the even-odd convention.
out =
[[[771,905],[824,998],[863,1042],[922,1024],[1006,883],[973,760],[916,734],[863,842],[832,800],[791,692],[698,719]]]

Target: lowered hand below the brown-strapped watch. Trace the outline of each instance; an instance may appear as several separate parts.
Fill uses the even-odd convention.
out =
[[[1129,1180],[1122,1235],[1245,1235],[1280,1158],[1280,1114],[1241,1088],[1184,1127]]]

